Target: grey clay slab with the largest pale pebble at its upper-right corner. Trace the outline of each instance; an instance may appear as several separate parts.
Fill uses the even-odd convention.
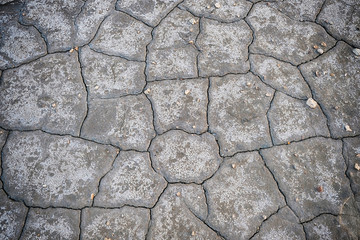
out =
[[[275,94],[268,116],[274,144],[330,136],[326,117],[318,106],[312,109],[305,100],[297,100],[281,92]]]

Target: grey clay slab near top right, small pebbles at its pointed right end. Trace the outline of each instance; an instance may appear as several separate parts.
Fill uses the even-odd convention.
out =
[[[321,26],[292,20],[264,3],[252,8],[247,21],[255,34],[251,53],[271,55],[294,65],[317,57],[314,45],[325,42],[326,47],[321,47],[324,51],[335,45],[335,39]]]

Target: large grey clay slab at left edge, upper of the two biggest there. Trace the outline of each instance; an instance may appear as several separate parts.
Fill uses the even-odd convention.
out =
[[[76,53],[49,54],[2,75],[1,126],[79,134],[86,91]]]

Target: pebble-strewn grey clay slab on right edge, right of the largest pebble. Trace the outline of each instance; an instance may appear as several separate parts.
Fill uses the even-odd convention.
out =
[[[358,135],[360,58],[352,52],[352,47],[338,42],[328,53],[301,65],[300,70],[328,117],[331,135],[335,138]]]

